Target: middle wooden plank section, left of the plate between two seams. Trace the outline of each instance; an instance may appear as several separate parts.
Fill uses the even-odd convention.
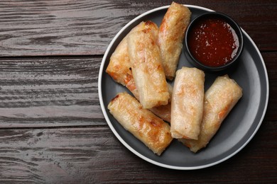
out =
[[[106,124],[98,97],[101,59],[0,59],[0,127]]]

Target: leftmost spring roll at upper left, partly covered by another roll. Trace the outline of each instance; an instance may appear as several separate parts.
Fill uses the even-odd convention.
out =
[[[152,21],[141,22],[139,25],[136,25],[130,33],[136,32],[138,30],[147,30],[150,29],[153,31],[153,34],[158,37],[158,26],[156,23]],[[130,34],[129,33],[129,34]],[[118,82],[119,84],[126,85],[131,79],[133,79],[131,73],[131,63],[128,54],[128,47],[127,47],[127,34],[123,40],[119,43],[116,47],[116,50],[112,53],[112,56],[109,59],[109,65],[106,69],[106,72],[109,76],[114,79],[114,81]]]

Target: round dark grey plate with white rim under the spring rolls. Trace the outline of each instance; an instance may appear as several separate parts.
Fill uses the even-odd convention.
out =
[[[187,6],[192,12],[191,20],[202,13],[212,11],[200,6]],[[207,147],[197,152],[197,154],[192,153],[190,149],[183,146],[178,140],[173,140],[168,149],[161,156],[157,156],[140,142],[139,139],[136,139],[132,134],[124,130],[107,109],[110,100],[117,93],[122,91],[129,93],[124,86],[116,84],[105,72],[109,64],[109,57],[131,28],[134,28],[141,21],[151,20],[159,26],[168,7],[155,8],[134,18],[134,20],[130,21],[116,34],[109,44],[99,71],[100,105],[104,117],[115,136],[127,149],[141,157],[141,159],[165,168],[180,170],[207,168],[229,159],[244,148],[251,138],[254,137],[254,134],[256,134],[266,113],[268,103],[268,76],[266,67],[261,53],[244,30],[244,50],[237,67],[222,73],[205,74],[205,90],[209,88],[217,76],[228,74],[230,78],[237,81],[239,86],[243,88],[244,95],[224,122],[222,122],[219,131]],[[185,57],[185,51],[180,55],[178,69],[183,66],[192,67]]]

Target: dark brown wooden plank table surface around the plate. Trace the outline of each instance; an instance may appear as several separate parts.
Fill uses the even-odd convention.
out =
[[[102,57],[136,16],[171,1],[0,1],[0,183],[276,183],[277,1],[178,1],[232,16],[256,42],[270,96],[254,138],[210,168],[140,159],[99,105]]]

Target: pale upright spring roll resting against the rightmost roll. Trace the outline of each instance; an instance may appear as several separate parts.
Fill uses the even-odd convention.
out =
[[[176,71],[171,100],[171,136],[198,139],[204,106],[205,74],[196,68]]]

